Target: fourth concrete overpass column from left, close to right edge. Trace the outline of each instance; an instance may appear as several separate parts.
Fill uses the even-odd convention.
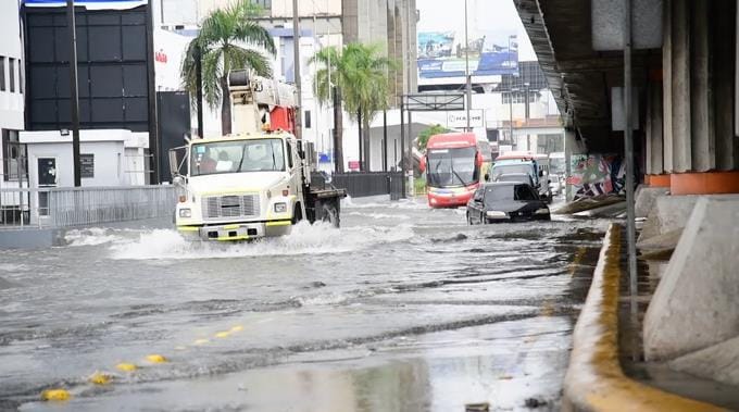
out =
[[[713,29],[713,97],[716,129],[716,168],[739,168],[739,139],[734,135],[734,72],[736,1],[712,1],[711,27]]]

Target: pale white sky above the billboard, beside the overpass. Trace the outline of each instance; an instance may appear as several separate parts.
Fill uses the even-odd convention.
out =
[[[464,0],[416,0],[421,13],[417,32],[464,33]],[[518,35],[518,60],[537,60],[513,0],[467,0],[468,38],[477,30]]]

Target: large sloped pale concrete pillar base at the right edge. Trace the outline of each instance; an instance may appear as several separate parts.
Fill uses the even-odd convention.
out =
[[[644,316],[644,357],[668,360],[739,336],[739,196],[701,197]]]

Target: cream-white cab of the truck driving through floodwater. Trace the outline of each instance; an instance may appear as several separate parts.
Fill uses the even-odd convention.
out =
[[[305,216],[310,185],[301,146],[288,133],[191,141],[187,173],[175,179],[177,229],[210,240],[289,233]]]

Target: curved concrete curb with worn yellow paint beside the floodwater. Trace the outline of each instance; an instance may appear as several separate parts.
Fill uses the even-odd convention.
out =
[[[564,378],[564,411],[723,411],[632,380],[618,361],[621,227],[613,223],[575,325]]]

